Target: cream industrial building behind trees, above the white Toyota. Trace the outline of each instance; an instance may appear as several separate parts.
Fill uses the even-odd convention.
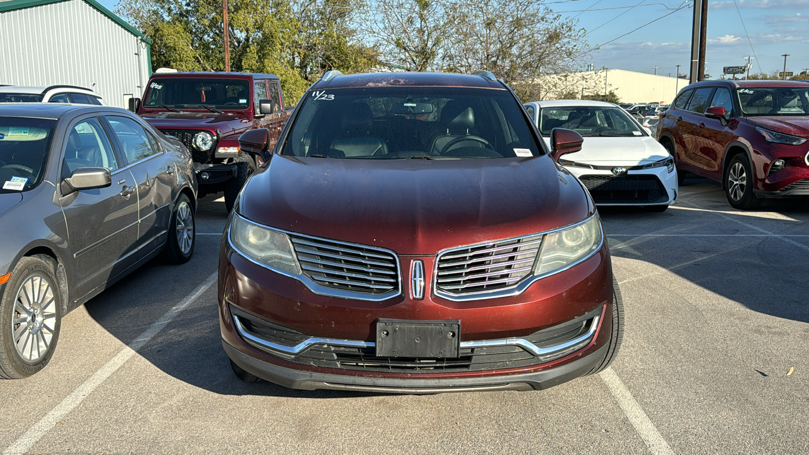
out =
[[[576,95],[604,95],[615,91],[622,103],[669,104],[688,79],[677,79],[659,74],[639,73],[628,70],[595,70],[570,74],[550,74],[536,83],[542,86],[544,100],[558,100]]]

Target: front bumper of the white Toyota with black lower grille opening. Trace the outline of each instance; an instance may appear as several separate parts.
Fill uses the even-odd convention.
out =
[[[668,172],[662,166],[628,170],[619,176],[606,169],[573,166],[565,169],[582,181],[598,206],[669,206],[677,200],[676,169]]]

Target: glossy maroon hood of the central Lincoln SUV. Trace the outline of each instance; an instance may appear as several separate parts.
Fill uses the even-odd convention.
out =
[[[328,159],[275,155],[248,181],[239,213],[311,236],[435,254],[585,219],[587,193],[549,156]]]

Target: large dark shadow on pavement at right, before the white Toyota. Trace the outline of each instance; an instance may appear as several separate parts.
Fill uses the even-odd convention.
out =
[[[702,179],[694,181],[705,183]],[[713,199],[711,202],[719,202]],[[681,206],[689,206],[688,202],[680,201]],[[725,202],[723,194],[722,202]],[[727,210],[722,211],[724,217],[739,216],[739,221],[750,226],[762,224],[761,229],[766,232],[809,235],[809,223],[759,218],[751,212],[727,213],[734,210],[731,206],[720,210]],[[809,214],[805,202],[800,200],[767,203],[759,211]],[[809,275],[809,251],[790,244],[785,240],[791,240],[789,237],[760,236],[766,234],[707,211],[669,209],[663,213],[647,213],[637,207],[600,207],[599,213],[605,222],[612,257],[650,262],[756,312],[809,322],[805,281]],[[735,236],[691,236],[722,232]],[[675,233],[675,236],[654,236],[665,233]],[[611,234],[616,236],[611,237]],[[809,237],[794,239],[800,245],[809,246]],[[654,271],[649,273],[645,279],[651,286]],[[619,276],[618,279],[621,282],[640,278]],[[689,298],[688,291],[683,295]]]

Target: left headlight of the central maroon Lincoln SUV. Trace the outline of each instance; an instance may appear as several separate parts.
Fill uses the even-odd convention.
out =
[[[234,213],[230,236],[239,253],[253,261],[290,274],[301,274],[290,236],[285,233],[251,223]]]

